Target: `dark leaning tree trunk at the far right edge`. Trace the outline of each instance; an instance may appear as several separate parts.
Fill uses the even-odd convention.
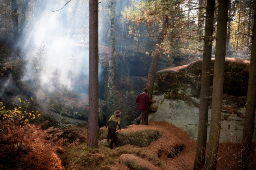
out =
[[[252,41],[252,53],[250,58],[250,73],[247,91],[247,103],[245,111],[245,125],[243,128],[243,140],[239,165],[241,170],[249,169],[250,147],[254,130],[255,109],[256,109],[256,6],[254,14],[254,31]]]

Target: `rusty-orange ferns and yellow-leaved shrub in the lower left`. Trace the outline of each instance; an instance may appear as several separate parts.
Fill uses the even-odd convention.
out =
[[[25,153],[24,168],[64,169],[56,155],[56,152],[63,152],[65,140],[58,139],[63,131],[54,127],[42,130],[41,126],[29,124],[29,120],[40,115],[37,112],[22,113],[21,107],[6,111],[2,102],[0,106],[0,144],[4,150],[13,154],[13,157],[18,157],[19,152]]]

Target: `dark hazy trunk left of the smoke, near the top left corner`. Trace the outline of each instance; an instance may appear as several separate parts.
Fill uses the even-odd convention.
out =
[[[18,4],[17,0],[11,0],[11,17],[13,22],[12,41],[13,49],[19,54],[18,41],[19,41],[19,19],[18,19]]]

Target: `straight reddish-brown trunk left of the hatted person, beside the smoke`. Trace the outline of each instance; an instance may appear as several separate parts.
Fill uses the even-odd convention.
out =
[[[89,148],[98,148],[98,60],[98,1],[89,0]]]

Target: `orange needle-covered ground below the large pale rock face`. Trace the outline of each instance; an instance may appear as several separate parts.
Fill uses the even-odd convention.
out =
[[[145,150],[157,154],[161,160],[161,169],[193,169],[195,160],[195,149],[197,143],[192,140],[186,132],[167,122],[148,122],[149,126],[130,125],[123,131],[135,131],[143,129],[157,129],[160,131],[160,139],[153,141]],[[182,153],[173,158],[168,158],[167,150],[171,150],[173,146],[183,145]],[[115,148],[115,147],[114,147]],[[217,157],[217,170],[221,169],[237,169],[237,151],[241,148],[241,144],[221,143],[219,144]],[[252,144],[250,151],[250,169],[256,168],[256,144]],[[117,160],[118,161],[118,160]],[[124,166],[121,169],[126,169]]]

